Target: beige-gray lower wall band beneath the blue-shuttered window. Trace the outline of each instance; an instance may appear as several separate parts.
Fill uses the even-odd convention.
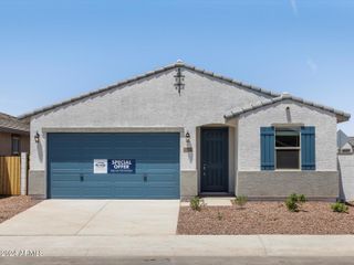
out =
[[[239,171],[237,194],[249,198],[285,198],[291,193],[310,199],[339,198],[339,173],[336,171],[280,172]]]

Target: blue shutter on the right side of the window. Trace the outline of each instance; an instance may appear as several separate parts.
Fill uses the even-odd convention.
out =
[[[301,127],[301,168],[302,170],[315,170],[315,128],[313,126]]]

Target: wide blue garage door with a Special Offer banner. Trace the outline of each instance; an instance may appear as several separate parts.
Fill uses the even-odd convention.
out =
[[[94,159],[135,170],[94,173]],[[48,134],[49,198],[179,198],[179,134]]]

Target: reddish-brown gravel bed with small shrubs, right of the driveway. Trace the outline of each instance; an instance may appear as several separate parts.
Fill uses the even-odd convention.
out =
[[[283,202],[248,202],[243,209],[181,206],[178,234],[354,234],[354,206],[332,212],[329,202],[306,202],[289,212]]]

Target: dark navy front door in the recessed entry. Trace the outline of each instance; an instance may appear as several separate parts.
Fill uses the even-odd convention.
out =
[[[228,192],[228,128],[201,129],[201,192]]]

